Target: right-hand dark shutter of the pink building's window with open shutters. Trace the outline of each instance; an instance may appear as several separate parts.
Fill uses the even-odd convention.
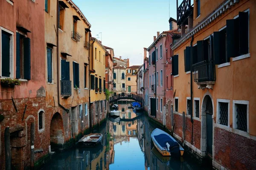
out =
[[[30,38],[23,38],[24,42],[24,79],[31,79],[30,65]]]

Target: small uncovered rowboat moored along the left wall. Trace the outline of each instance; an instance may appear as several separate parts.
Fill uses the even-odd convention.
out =
[[[89,135],[84,135],[81,139],[79,139],[78,144],[80,146],[95,146],[102,140],[101,133],[90,133]]]

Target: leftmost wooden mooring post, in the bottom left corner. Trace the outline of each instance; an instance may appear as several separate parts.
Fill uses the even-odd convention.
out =
[[[6,170],[11,170],[11,146],[10,146],[10,130],[9,127],[6,127],[4,131],[4,149],[6,156]]]

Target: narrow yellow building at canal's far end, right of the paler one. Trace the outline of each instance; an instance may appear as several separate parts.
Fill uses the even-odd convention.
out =
[[[137,92],[137,71],[140,65],[132,65],[126,68],[126,93],[136,94]]]

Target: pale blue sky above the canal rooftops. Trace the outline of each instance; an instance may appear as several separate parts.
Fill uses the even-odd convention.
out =
[[[170,1],[170,10],[169,10]],[[182,0],[179,0],[179,3]],[[176,0],[73,0],[91,24],[93,37],[114,49],[114,57],[143,64],[143,48],[176,19]],[[170,15],[169,15],[170,11]],[[101,34],[99,34],[101,33]],[[98,34],[98,36],[97,36]]]

